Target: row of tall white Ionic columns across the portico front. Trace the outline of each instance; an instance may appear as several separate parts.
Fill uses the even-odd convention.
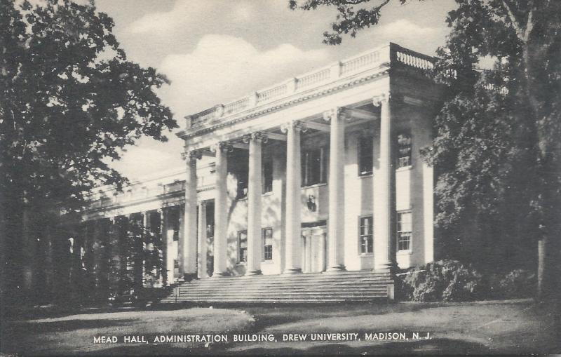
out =
[[[395,256],[393,246],[395,223],[395,170],[393,169],[394,149],[391,137],[391,100],[388,94],[375,97],[373,104],[380,107],[379,120],[379,157],[374,155],[374,269],[388,269]],[[342,271],[344,264],[344,156],[345,126],[348,119],[346,109],[335,107],[323,114],[329,121],[330,130],[330,176],[329,176],[329,217],[327,220],[327,271]],[[376,123],[376,121],[374,121]],[[284,274],[302,271],[300,239],[302,225],[302,166],[301,137],[306,131],[306,122],[294,120],[281,126],[286,139],[286,189],[285,189],[285,255]],[[277,134],[278,135],[278,134]],[[246,274],[261,273],[261,191],[262,191],[262,144],[267,140],[267,133],[256,131],[244,137],[249,144],[249,182],[248,182],[248,257]],[[218,142],[210,148],[215,151],[215,234],[214,234],[214,273],[213,276],[227,275],[227,166],[229,142]],[[201,151],[192,150],[184,153],[186,165],[184,234],[180,236],[180,275],[207,276],[204,267],[205,247],[205,206],[199,206],[197,221],[197,159]],[[197,229],[198,226],[198,229]],[[197,237],[198,231],[198,237]],[[197,249],[198,239],[198,249]],[[198,252],[197,252],[198,250]],[[198,253],[198,254],[197,254]],[[198,264],[197,264],[197,256]],[[197,271],[197,265],[200,267]]]

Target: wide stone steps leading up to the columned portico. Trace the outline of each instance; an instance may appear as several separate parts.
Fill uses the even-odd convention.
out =
[[[388,272],[340,271],[293,275],[228,276],[185,281],[161,303],[330,303],[391,298]]]

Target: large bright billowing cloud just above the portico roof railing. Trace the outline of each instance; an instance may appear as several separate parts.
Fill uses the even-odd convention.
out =
[[[181,118],[327,62],[325,49],[285,43],[259,51],[238,37],[206,35],[191,53],[166,56],[158,70],[172,81],[162,97]]]

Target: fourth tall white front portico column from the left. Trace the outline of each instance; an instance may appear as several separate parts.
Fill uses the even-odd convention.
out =
[[[292,121],[281,127],[286,137],[286,221],[285,274],[302,271],[300,246],[302,241],[302,167],[300,166],[300,132],[306,127]]]

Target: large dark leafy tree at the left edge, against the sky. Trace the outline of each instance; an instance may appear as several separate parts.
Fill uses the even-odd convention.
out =
[[[36,234],[27,220],[76,212],[96,184],[120,187],[107,159],[177,127],[155,93],[168,80],[127,60],[113,27],[93,1],[0,2],[0,250],[15,266],[21,237]]]

